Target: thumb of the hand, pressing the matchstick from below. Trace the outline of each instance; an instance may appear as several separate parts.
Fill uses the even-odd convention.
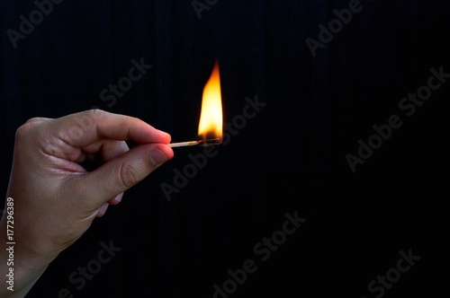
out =
[[[168,145],[138,145],[82,177],[81,185],[85,188],[86,199],[94,202],[97,205],[95,207],[100,207],[112,197],[138,184],[173,157],[174,152]]]

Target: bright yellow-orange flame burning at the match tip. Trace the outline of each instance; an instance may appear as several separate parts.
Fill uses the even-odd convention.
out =
[[[203,139],[222,138],[223,127],[222,101],[220,92],[219,62],[216,61],[208,83],[203,89],[202,112],[198,134]]]

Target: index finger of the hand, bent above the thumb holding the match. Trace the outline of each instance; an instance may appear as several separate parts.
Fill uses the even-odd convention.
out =
[[[49,122],[49,130],[68,145],[84,147],[106,138],[139,144],[170,143],[170,135],[129,116],[103,110],[86,110]]]

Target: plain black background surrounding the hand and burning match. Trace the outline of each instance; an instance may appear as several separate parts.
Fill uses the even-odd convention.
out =
[[[431,67],[450,73],[450,4],[362,1],[363,11],[312,57],[305,39],[317,39],[318,25],[348,3],[220,0],[199,20],[191,0],[64,1],[14,48],[6,31],[18,31],[19,16],[36,6],[1,0],[3,194],[14,132],[28,118],[96,106],[190,140],[216,57],[226,122],[246,97],[267,103],[167,202],[160,184],[173,184],[189,153],[202,153],[176,149],[95,219],[28,297],[58,297],[61,288],[74,297],[212,297],[212,285],[246,259],[257,272],[230,297],[374,297],[367,285],[410,249],[422,258],[384,296],[438,294],[450,83],[411,117],[398,104],[428,82]],[[109,107],[100,92],[141,57],[153,68]],[[403,126],[353,173],[346,154],[393,114]],[[261,261],[254,246],[294,211],[307,222]],[[122,250],[77,290],[68,276],[96,259],[102,241]]]

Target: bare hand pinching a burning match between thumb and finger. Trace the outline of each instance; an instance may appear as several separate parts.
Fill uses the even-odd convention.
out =
[[[3,282],[0,297],[24,297],[95,217],[173,158],[170,139],[138,118],[103,110],[31,118],[19,127],[7,191],[14,199],[14,292]],[[126,140],[139,145],[130,150]],[[103,164],[94,171],[81,165],[99,156]],[[0,276],[9,268],[6,207],[0,222]]]

